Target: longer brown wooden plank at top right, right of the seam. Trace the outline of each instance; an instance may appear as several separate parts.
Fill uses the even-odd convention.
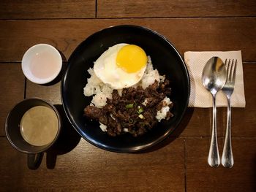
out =
[[[237,17],[255,16],[255,1],[99,0],[99,18]]]

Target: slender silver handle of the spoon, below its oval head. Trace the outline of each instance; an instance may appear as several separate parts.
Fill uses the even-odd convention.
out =
[[[217,142],[217,110],[215,104],[215,95],[213,95],[213,124],[211,132],[211,145],[208,154],[208,164],[212,167],[219,166],[219,149]]]

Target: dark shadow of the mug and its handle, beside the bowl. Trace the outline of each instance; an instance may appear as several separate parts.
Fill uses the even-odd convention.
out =
[[[56,143],[47,150],[46,166],[48,169],[54,169],[58,155],[69,153],[80,142],[80,135],[72,127],[65,115],[64,108],[61,104],[55,105],[61,115],[61,133]]]

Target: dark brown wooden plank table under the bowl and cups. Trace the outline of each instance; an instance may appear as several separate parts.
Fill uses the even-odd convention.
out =
[[[256,191],[256,1],[8,1],[0,2],[0,191]],[[189,108],[176,131],[146,153],[101,150],[81,139],[64,119],[64,134],[37,170],[4,133],[11,107],[40,97],[61,107],[60,82],[36,85],[20,60],[32,45],[48,43],[69,55],[108,26],[146,26],[187,50],[241,50],[246,108],[233,108],[232,169],[207,164],[211,108]],[[64,62],[65,64],[65,62]],[[64,117],[64,114],[62,113]],[[218,109],[222,154],[226,109]]]

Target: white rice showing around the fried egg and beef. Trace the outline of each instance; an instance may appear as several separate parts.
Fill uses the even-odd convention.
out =
[[[99,78],[96,76],[94,73],[93,69],[88,70],[89,74],[91,74],[91,77],[87,79],[87,84],[86,87],[83,88],[83,94],[85,96],[93,96],[91,100],[91,105],[94,105],[95,107],[102,108],[104,107],[107,103],[107,98],[112,99],[112,92],[113,88],[111,88],[109,85],[105,84]],[[143,89],[147,88],[149,85],[152,85],[154,81],[157,80],[158,82],[163,82],[165,80],[165,75],[161,76],[159,75],[159,72],[157,69],[153,68],[151,58],[148,56],[148,62],[146,66],[146,71],[143,74],[142,79],[140,82],[138,82],[136,85],[133,87],[138,87],[138,85],[142,86]],[[119,95],[121,96],[121,90],[118,90]],[[164,99],[166,102],[170,102],[170,99]],[[145,104],[146,105],[146,101]],[[167,112],[170,110],[169,107],[165,106],[157,112],[157,120],[160,121],[166,117]],[[103,130],[106,130],[105,125],[101,124],[100,125]]]

